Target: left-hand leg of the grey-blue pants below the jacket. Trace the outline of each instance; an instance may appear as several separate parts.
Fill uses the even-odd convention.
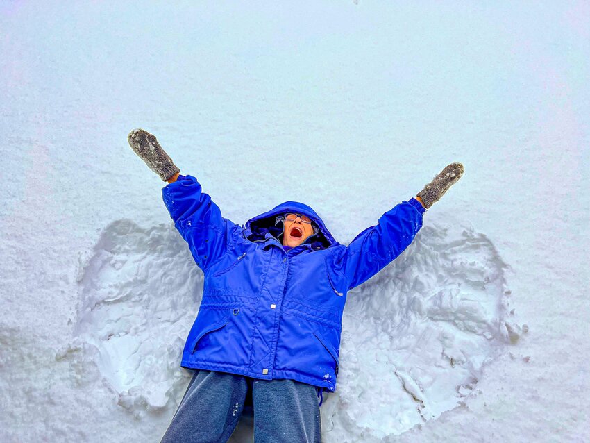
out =
[[[161,443],[225,443],[232,435],[248,392],[246,377],[195,371]]]

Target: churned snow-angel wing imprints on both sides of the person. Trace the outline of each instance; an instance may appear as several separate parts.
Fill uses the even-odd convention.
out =
[[[58,358],[94,362],[136,417],[175,408],[187,383],[178,361],[203,289],[191,262],[171,226],[124,219],[105,229],[79,278],[76,340]],[[484,365],[521,334],[505,268],[473,227],[425,226],[394,265],[350,292],[339,390],[321,408],[326,434],[396,435],[464,404]]]

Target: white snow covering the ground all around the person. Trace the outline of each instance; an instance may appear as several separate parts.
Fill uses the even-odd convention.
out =
[[[169,3],[0,2],[0,441],[158,442],[187,386],[139,126],[225,217],[344,244],[462,162],[348,294],[323,441],[590,441],[590,3]]]

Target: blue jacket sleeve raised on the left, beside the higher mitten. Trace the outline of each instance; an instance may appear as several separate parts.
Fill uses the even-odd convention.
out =
[[[228,250],[239,226],[221,216],[219,206],[194,176],[179,175],[162,188],[162,199],[194,261],[205,271]]]

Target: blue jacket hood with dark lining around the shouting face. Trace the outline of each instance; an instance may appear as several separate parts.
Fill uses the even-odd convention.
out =
[[[251,242],[259,242],[266,239],[267,234],[270,234],[279,240],[279,235],[283,233],[283,222],[277,220],[277,216],[286,212],[305,214],[315,224],[317,233],[310,235],[302,244],[311,244],[312,249],[326,249],[332,244],[338,244],[317,212],[305,203],[298,201],[285,201],[271,210],[249,219],[244,225],[244,237]]]

